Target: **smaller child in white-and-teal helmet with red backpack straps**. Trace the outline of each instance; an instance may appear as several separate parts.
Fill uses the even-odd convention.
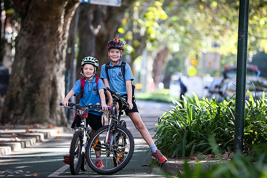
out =
[[[69,91],[69,93],[66,95],[65,99],[63,100],[62,104],[64,107],[67,107],[69,104],[69,99],[71,96],[77,96],[79,93],[81,93],[82,87],[81,87],[81,80],[85,80],[85,85],[83,89],[82,98],[80,99],[79,105],[80,106],[88,106],[88,104],[92,103],[95,105],[95,103],[100,103],[103,110],[107,110],[107,104],[105,101],[105,95],[104,92],[106,92],[106,87],[101,79],[97,79],[95,76],[96,71],[98,70],[99,63],[96,58],[93,57],[86,57],[82,59],[82,67],[81,67],[81,74],[83,79],[78,80],[73,88]],[[97,84],[96,84],[96,80]],[[101,116],[102,112],[97,112],[94,110],[88,111],[88,117],[86,118],[86,123],[90,125],[92,128],[92,134],[96,132],[99,128],[102,127],[101,122]],[[71,128],[75,128],[75,126],[80,126],[81,123],[81,117],[79,115],[76,116],[75,120],[73,121]],[[95,165],[103,169],[104,165],[101,160],[101,153],[96,152],[96,163]],[[64,158],[69,158],[69,155],[65,155]]]

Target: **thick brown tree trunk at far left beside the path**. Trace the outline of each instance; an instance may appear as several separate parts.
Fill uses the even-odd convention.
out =
[[[69,24],[78,0],[16,0],[22,18],[2,123],[66,125],[59,106]]]

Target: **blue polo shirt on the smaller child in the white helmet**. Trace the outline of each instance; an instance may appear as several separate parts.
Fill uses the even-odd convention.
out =
[[[71,90],[74,91],[74,96],[77,96],[78,94],[81,93],[82,90],[82,85],[81,85],[81,79],[78,80],[75,85],[71,88]],[[82,98],[80,99],[80,106],[88,106],[88,104],[93,104],[96,105],[96,103],[101,103],[100,100],[100,96],[98,94],[98,90],[104,88],[104,92],[107,91],[103,81],[101,79],[98,80],[97,83],[97,88],[96,88],[96,77],[93,78],[93,80],[91,82],[88,82],[88,80],[85,80],[85,85],[84,85],[84,89],[83,89],[83,95]],[[102,112],[97,112],[94,111],[93,109],[97,109],[97,108],[92,108],[90,109],[88,112],[89,113],[93,113],[95,115],[102,115]]]

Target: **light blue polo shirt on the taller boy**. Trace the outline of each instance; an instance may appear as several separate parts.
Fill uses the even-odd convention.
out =
[[[107,74],[105,70],[106,64],[101,66],[101,74],[100,78],[107,79]],[[109,62],[109,66],[112,66],[111,62]],[[121,66],[121,61],[117,66]],[[127,95],[126,90],[126,82],[127,80],[134,80],[134,76],[129,64],[125,64],[125,78],[123,78],[122,68],[121,67],[113,67],[108,69],[109,73],[109,86],[111,90],[114,90],[120,93],[120,96]]]

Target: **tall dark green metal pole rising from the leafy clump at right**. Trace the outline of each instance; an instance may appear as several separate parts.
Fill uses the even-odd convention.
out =
[[[234,151],[244,151],[244,117],[245,89],[247,72],[247,32],[248,32],[249,0],[239,1],[237,70],[236,70],[236,113]]]

